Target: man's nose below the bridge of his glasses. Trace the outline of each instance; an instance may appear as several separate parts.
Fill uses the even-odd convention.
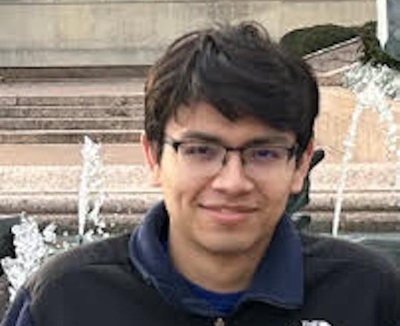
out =
[[[227,152],[220,171],[212,181],[214,190],[231,195],[250,192],[254,183],[245,172],[242,159],[238,152]]]

